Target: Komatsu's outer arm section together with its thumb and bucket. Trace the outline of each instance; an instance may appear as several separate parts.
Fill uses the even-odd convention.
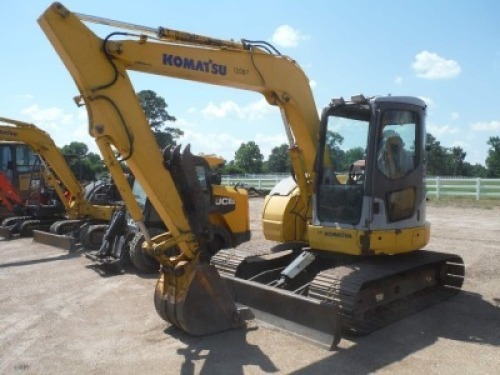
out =
[[[39,23],[79,88],[78,103],[83,101],[88,111],[89,132],[144,234],[145,250],[162,265],[155,292],[157,311],[195,335],[241,326],[243,317],[215,267],[200,261],[210,237],[204,230],[209,215],[206,202],[196,194],[199,183],[189,149],[182,155],[178,150],[160,151],[127,75],[131,64],[103,50],[107,42],[76,14],[54,3]],[[168,232],[150,238],[122,162],[141,184]]]

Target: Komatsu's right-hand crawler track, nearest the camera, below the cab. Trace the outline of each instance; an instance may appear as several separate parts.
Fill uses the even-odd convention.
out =
[[[459,256],[420,250],[322,271],[309,297],[336,303],[344,331],[367,334],[456,294],[463,278]]]

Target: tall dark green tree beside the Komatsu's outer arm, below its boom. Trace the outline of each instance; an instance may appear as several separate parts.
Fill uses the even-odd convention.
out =
[[[178,128],[165,126],[166,121],[175,122],[176,118],[167,112],[165,99],[152,90],[142,90],[137,93],[141,107],[153,130],[158,146],[163,149],[177,144],[177,140],[184,132]]]

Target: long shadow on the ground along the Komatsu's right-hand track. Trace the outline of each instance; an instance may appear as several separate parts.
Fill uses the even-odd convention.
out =
[[[375,373],[444,338],[500,346],[500,308],[476,293],[455,297],[384,327],[293,374]]]

